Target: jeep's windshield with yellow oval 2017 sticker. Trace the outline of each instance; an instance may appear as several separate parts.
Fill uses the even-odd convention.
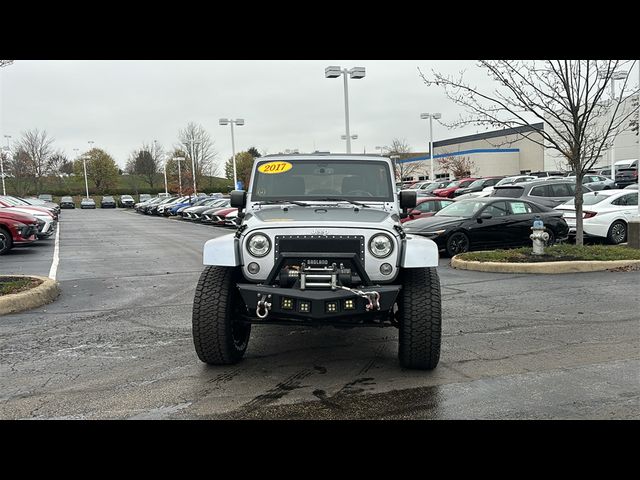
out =
[[[380,161],[265,159],[254,175],[254,202],[393,202],[391,172]]]

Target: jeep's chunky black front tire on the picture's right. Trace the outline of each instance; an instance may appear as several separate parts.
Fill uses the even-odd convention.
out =
[[[434,267],[404,270],[398,296],[398,358],[405,368],[432,370],[440,360],[442,306]]]

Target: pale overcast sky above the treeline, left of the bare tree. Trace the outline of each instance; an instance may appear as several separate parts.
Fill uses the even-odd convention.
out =
[[[231,157],[222,117],[246,122],[235,128],[236,151],[345,152],[343,81],[325,78],[329,65],[366,68],[364,79],[349,80],[350,130],[358,135],[353,153],[376,153],[394,138],[426,151],[428,120],[420,113],[457,117],[442,89],[423,83],[418,67],[425,73],[468,69],[478,85],[490,82],[475,62],[460,60],[16,60],[0,69],[0,130],[12,140],[28,129],[46,130],[70,158],[93,140],[121,167],[143,142],[170,148],[189,122],[209,132],[222,164]],[[434,139],[480,128],[449,131],[434,122]]]

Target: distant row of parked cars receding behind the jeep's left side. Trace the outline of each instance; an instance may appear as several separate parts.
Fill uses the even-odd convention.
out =
[[[236,227],[238,209],[231,208],[230,200],[222,194],[198,196],[154,197],[134,205],[138,213],[177,217],[184,221],[215,226]]]

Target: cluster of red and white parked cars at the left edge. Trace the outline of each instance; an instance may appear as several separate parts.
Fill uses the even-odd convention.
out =
[[[43,201],[39,203],[34,199],[0,196],[0,255],[17,245],[28,245],[53,235],[60,207]]]

